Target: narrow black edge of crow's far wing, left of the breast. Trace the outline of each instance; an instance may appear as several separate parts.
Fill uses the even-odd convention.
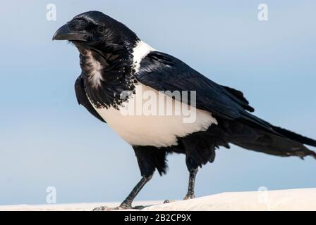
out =
[[[102,122],[105,122],[102,117],[97,113],[95,108],[91,105],[89,99],[87,99],[87,94],[85,94],[85,84],[83,82],[83,78],[81,75],[77,78],[75,81],[75,96],[77,97],[77,101],[80,105],[85,106],[85,108],[97,119],[101,120]]]

